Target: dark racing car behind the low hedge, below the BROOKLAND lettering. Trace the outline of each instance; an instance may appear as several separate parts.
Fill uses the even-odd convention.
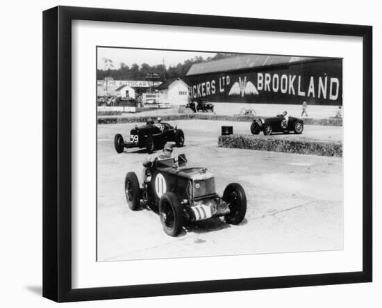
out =
[[[297,117],[285,117],[285,115],[276,115],[276,117],[256,117],[251,124],[251,133],[258,135],[263,131],[264,135],[272,133],[302,133],[304,130],[303,120]]]

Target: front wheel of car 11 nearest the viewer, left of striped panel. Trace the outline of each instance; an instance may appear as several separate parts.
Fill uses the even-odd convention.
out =
[[[183,227],[183,211],[176,195],[167,192],[159,200],[159,217],[163,230],[169,236],[177,236]]]

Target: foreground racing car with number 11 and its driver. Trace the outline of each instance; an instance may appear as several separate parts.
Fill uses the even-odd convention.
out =
[[[215,191],[215,177],[206,168],[186,167],[184,154],[177,161],[157,159],[144,168],[140,186],[135,172],[125,178],[128,206],[136,211],[140,206],[158,209],[163,230],[177,236],[186,221],[195,222],[223,216],[225,221],[238,225],[247,211],[247,197],[238,183],[226,186],[223,196]]]

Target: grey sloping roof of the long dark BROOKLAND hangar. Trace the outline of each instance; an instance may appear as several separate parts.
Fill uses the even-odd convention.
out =
[[[228,72],[233,70],[243,70],[271,65],[285,65],[290,63],[317,59],[319,58],[299,56],[272,56],[264,54],[244,54],[240,56],[232,56],[230,58],[195,63],[192,65],[192,67],[190,67],[190,70],[188,71],[186,76],[216,72]]]

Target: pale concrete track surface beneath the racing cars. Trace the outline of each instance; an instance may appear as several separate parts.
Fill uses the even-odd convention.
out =
[[[214,218],[188,223],[178,237],[167,236],[156,213],[131,211],[126,204],[126,172],[136,172],[142,181],[142,161],[148,154],[138,148],[117,154],[113,138],[115,133],[127,137],[135,124],[102,124],[98,126],[99,261],[342,249],[341,158],[219,148],[220,127],[229,123],[172,124],[185,132],[185,146],[174,147],[174,154],[185,153],[188,165],[213,172],[219,195],[231,182],[244,187],[248,201],[244,221],[228,225]],[[249,133],[249,123],[234,123],[233,129]],[[299,138],[307,137],[342,140],[342,128],[306,126]]]

